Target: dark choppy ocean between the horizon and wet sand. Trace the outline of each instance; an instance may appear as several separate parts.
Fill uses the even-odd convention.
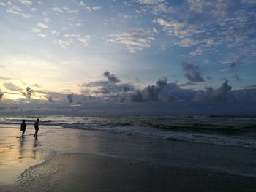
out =
[[[0,128],[20,128],[23,119],[27,128],[54,126],[105,131],[154,139],[207,143],[232,147],[256,148],[256,117],[195,115],[165,116],[1,116]]]

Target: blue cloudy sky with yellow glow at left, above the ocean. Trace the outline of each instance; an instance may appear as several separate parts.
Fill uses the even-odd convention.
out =
[[[256,115],[255,13],[255,0],[1,0],[0,113]]]

